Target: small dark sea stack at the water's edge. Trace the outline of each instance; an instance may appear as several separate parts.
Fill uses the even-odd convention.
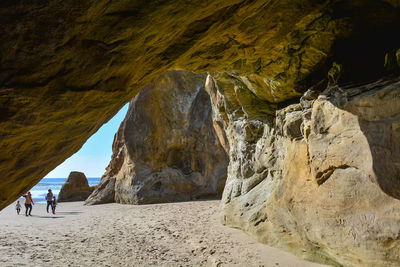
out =
[[[83,172],[71,172],[58,194],[58,202],[84,201],[93,192]]]

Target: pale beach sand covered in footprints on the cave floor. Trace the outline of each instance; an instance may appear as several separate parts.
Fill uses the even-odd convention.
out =
[[[218,221],[219,201],[0,211],[0,266],[322,266]]]

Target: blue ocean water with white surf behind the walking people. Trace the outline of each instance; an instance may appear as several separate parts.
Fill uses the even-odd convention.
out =
[[[89,186],[98,185],[100,178],[87,178]],[[47,190],[51,189],[53,195],[58,197],[60,193],[61,186],[64,184],[67,178],[43,178],[37,185],[35,185],[31,190],[32,198],[35,203],[46,203],[45,197],[47,195]],[[23,198],[20,199],[23,203]]]

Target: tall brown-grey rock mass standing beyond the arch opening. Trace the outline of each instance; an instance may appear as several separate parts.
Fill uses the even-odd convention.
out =
[[[226,137],[214,130],[205,79],[170,71],[143,88],[86,203],[143,204],[222,194],[228,157],[220,140],[226,144]]]

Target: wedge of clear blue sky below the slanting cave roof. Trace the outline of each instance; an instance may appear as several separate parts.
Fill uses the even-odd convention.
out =
[[[114,134],[125,118],[126,104],[109,122],[92,135],[82,148],[65,160],[44,178],[67,178],[71,171],[85,173],[86,177],[101,177],[111,160]]]

